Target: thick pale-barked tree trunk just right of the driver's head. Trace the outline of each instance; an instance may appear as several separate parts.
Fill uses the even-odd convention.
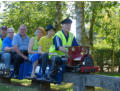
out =
[[[78,43],[82,46],[88,46],[88,38],[85,32],[84,25],[84,2],[75,2],[75,12],[76,12],[76,39]]]

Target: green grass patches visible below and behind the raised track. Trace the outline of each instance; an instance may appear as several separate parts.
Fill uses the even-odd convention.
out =
[[[97,73],[97,74],[120,77],[120,73]],[[30,86],[31,80],[11,79],[11,81],[12,84],[14,85],[0,83],[0,91],[39,91],[38,88]],[[61,85],[51,84],[51,88],[54,89],[54,91],[73,91],[73,84],[72,83],[62,83]],[[110,90],[95,87],[95,91],[110,91]]]

